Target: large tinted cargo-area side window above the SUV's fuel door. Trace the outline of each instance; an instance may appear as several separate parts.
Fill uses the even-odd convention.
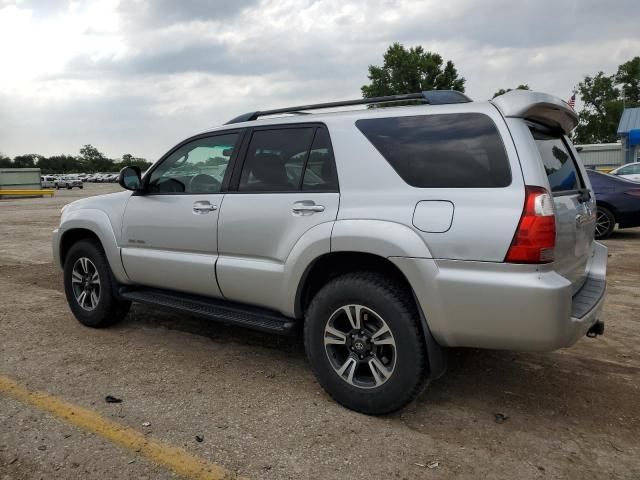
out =
[[[363,119],[356,126],[414,187],[491,188],[511,183],[500,134],[481,113]]]

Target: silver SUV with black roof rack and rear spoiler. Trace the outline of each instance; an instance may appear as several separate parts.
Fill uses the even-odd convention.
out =
[[[607,249],[576,123],[525,91],[251,112],[143,178],[123,169],[128,191],[67,205],[54,257],[85,325],[140,302],[303,329],[334,399],[391,412],[443,373],[445,347],[553,350],[603,332]]]

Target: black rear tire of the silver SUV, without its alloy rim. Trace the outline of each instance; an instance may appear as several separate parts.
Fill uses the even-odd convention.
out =
[[[335,318],[335,312],[346,305],[366,307],[382,318],[391,330],[395,341],[395,367],[381,385],[374,382],[376,386],[362,388],[348,383],[332,363],[336,360],[329,359],[325,349],[325,327],[331,318]],[[320,385],[338,403],[357,412],[369,415],[394,412],[411,402],[427,381],[426,346],[415,301],[407,288],[378,273],[351,273],[326,284],[306,312],[304,341],[309,363]],[[347,352],[349,356],[355,353],[353,346],[354,343],[352,353]],[[366,363],[366,354],[364,356]],[[358,355],[355,357],[357,361]],[[359,357],[363,358],[362,355]],[[367,367],[362,363],[354,368],[364,368],[367,373]]]

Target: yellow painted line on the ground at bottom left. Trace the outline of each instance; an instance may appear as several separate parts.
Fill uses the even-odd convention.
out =
[[[111,442],[164,465],[179,475],[197,480],[239,478],[219,465],[190,455],[182,448],[166,445],[146,438],[142,433],[125,425],[112,422],[93,410],[67,403],[43,392],[31,391],[9,377],[0,375],[0,393],[62,418]]]

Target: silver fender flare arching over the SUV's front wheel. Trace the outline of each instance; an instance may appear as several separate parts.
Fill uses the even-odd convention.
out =
[[[65,212],[57,232],[57,242],[54,243],[54,258],[61,258],[60,246],[63,244],[64,236],[76,229],[89,230],[98,237],[107,256],[113,276],[120,283],[129,283],[129,277],[122,265],[120,248],[118,247],[111,221],[109,216],[102,210],[82,208]]]

